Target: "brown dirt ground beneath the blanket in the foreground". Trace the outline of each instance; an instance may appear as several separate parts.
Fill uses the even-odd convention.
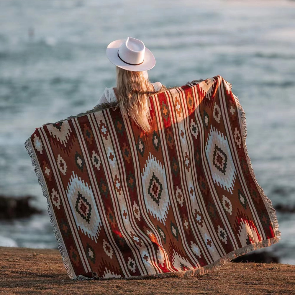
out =
[[[295,266],[227,263],[190,278],[71,281],[58,250],[0,247],[0,294],[295,294]]]

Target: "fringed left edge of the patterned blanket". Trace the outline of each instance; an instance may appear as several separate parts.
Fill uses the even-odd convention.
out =
[[[71,266],[71,263],[69,261],[67,251],[66,251],[65,246],[63,244],[63,240],[62,240],[62,238],[60,236],[58,226],[56,224],[56,221],[55,221],[55,218],[54,218],[54,215],[53,215],[53,211],[52,211],[52,208],[51,208],[51,205],[50,205],[50,202],[49,202],[49,194],[48,194],[48,191],[47,191],[47,187],[46,187],[45,181],[43,179],[39,163],[38,163],[38,161],[36,159],[34,150],[32,148],[30,138],[27,139],[24,146],[25,146],[25,148],[27,150],[27,153],[30,155],[32,165],[34,166],[34,171],[35,171],[35,173],[37,175],[37,178],[38,178],[38,183],[41,186],[41,189],[42,189],[42,192],[43,192],[43,196],[45,196],[45,198],[47,200],[47,212],[48,212],[49,217],[50,217],[50,224],[51,224],[51,226],[53,228],[53,233],[54,233],[54,236],[55,236],[55,240],[56,240],[56,242],[58,244],[58,250],[59,250],[59,252],[61,254],[63,264],[65,266],[65,269],[67,271],[68,276],[71,279],[76,279],[77,276],[74,273],[73,268]]]

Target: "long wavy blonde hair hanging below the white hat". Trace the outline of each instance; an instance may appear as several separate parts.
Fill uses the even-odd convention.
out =
[[[150,101],[148,96],[154,91],[148,80],[147,71],[134,72],[116,67],[117,99],[121,113],[129,116],[144,131],[150,127]],[[153,91],[150,91],[150,90]]]

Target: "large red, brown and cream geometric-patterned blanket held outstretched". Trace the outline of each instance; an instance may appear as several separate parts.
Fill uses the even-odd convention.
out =
[[[150,112],[149,133],[97,106],[26,142],[70,278],[202,274],[279,239],[229,83],[155,94]]]

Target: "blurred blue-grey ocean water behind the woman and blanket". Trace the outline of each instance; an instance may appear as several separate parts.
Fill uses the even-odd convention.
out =
[[[154,53],[153,82],[232,83],[258,183],[274,205],[295,206],[295,1],[1,0],[0,194],[34,195],[44,214],[1,221],[0,244],[56,248],[24,142],[114,86],[105,49],[128,36]],[[268,249],[295,264],[295,214],[277,214],[281,241]]]

